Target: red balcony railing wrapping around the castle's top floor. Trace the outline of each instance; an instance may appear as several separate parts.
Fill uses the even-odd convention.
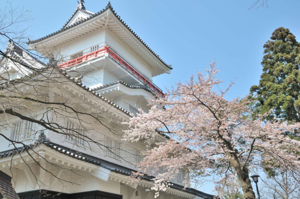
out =
[[[91,52],[93,51],[93,52]],[[141,83],[146,84],[151,90],[158,93],[159,95],[164,95],[162,90],[158,88],[154,83],[152,83],[151,80],[149,80],[146,75],[138,71],[136,68],[134,68],[133,65],[131,65],[129,62],[127,62],[123,57],[121,57],[118,53],[116,53],[114,50],[112,50],[109,46],[102,46],[95,50],[91,50],[87,53],[82,53],[80,55],[77,55],[76,57],[72,57],[70,61],[64,62],[62,64],[58,65],[58,68],[66,69],[70,68],[79,64],[82,64],[86,61],[90,61],[92,59],[96,59],[99,57],[105,56],[106,53],[115,60],[122,68],[126,69],[129,73],[131,73],[135,78],[137,78]]]

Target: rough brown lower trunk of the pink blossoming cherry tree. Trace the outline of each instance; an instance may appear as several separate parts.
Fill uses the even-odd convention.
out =
[[[235,159],[235,157],[232,157],[230,160],[230,164],[234,167],[238,179],[241,181],[241,187],[244,192],[244,198],[245,199],[256,199],[255,193],[252,189],[251,181],[249,178],[249,172],[248,169],[245,167],[242,169],[239,162]]]

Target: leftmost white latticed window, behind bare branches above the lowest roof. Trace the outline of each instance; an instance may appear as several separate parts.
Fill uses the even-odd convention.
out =
[[[33,122],[22,120],[13,124],[10,139],[14,141],[23,141],[33,138],[34,135]]]

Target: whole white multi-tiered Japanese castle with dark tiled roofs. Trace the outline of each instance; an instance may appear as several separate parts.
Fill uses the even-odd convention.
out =
[[[129,121],[140,110],[149,110],[146,98],[163,97],[163,91],[152,78],[164,73],[170,74],[172,70],[171,65],[165,63],[116,14],[110,2],[103,10],[93,13],[85,8],[83,0],[79,0],[75,12],[60,30],[40,39],[29,40],[28,44],[31,50],[50,59],[48,66],[57,65],[49,67],[58,71],[55,75],[71,80],[64,85],[55,82],[55,86],[64,87],[62,90],[65,92],[52,93],[49,98],[64,98],[66,93],[71,93],[74,98],[84,101],[82,106],[95,104],[107,113],[104,119],[112,121],[108,125],[118,129],[118,132],[126,128],[122,126],[122,121]],[[9,47],[13,50],[8,49],[7,53],[15,53],[19,55],[18,59],[25,59],[25,54],[19,52],[22,50],[12,48],[12,45]],[[47,68],[40,62],[35,67]],[[30,71],[23,73],[13,67],[9,68],[17,77],[30,75]],[[43,82],[43,86],[47,87],[46,83]],[[56,89],[55,86],[50,89]],[[30,84],[22,89],[29,87]],[[80,105],[80,101],[74,103],[74,106]],[[36,112],[34,118],[48,114],[44,110]],[[140,181],[128,178],[133,171],[138,170],[137,163],[143,158],[140,155],[142,150],[146,150],[143,141],[124,143],[122,136],[106,132],[101,127],[94,128],[91,137],[99,140],[99,145],[112,149],[109,151],[103,149],[105,147],[93,148],[93,143],[88,145],[83,130],[80,131],[82,137],[74,138],[73,134],[61,135],[53,129],[51,131],[35,126],[29,120],[10,119],[12,131],[1,130],[1,133],[14,141],[20,137],[28,138],[28,145],[19,144],[16,149],[7,140],[1,140],[0,169],[16,176],[14,186],[20,198],[155,198],[155,191],[150,190],[154,176],[146,176]],[[65,123],[68,129],[79,127],[80,130],[81,124],[72,118],[59,122]],[[21,128],[24,125],[26,131]],[[38,136],[30,134],[34,128]],[[159,133],[155,137],[157,142],[167,139],[167,136]],[[74,140],[77,141],[76,146]],[[158,170],[159,173],[164,172],[163,167]],[[59,180],[52,179],[50,172],[66,180],[63,186],[58,183]],[[190,186],[184,188],[182,182],[186,172],[180,170],[172,185],[160,193],[159,199],[214,197]]]

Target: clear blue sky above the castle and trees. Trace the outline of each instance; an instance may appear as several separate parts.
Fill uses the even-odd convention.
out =
[[[268,8],[249,11],[255,1],[112,0],[111,4],[125,23],[164,61],[172,64],[174,69],[170,75],[154,78],[160,88],[188,80],[192,73],[203,71],[215,60],[225,84],[235,81],[226,96],[232,99],[243,97],[250,86],[258,84],[262,73],[262,46],[277,27],[289,28],[300,38],[300,1],[269,0]],[[77,5],[76,0],[11,2],[14,7],[24,6],[32,11],[33,20],[27,32],[31,39],[59,30]],[[98,12],[107,2],[85,0],[85,8]],[[207,185],[204,189],[210,192],[212,188]]]

